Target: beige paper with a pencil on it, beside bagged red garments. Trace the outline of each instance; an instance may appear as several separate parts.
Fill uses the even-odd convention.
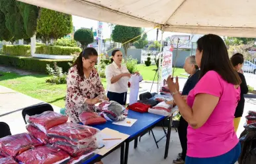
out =
[[[124,140],[126,140],[126,138],[129,137],[128,134],[124,134],[121,132],[118,132],[116,130],[112,130],[110,128],[104,128],[103,130],[101,130],[101,134],[102,137],[101,138],[105,138],[110,136],[111,138],[122,138],[122,140],[119,140],[118,142],[124,142]],[[113,142],[110,142],[111,144],[114,144]],[[99,149],[99,151],[97,152],[99,155],[105,155],[105,153],[108,153],[108,151],[112,150],[113,148],[115,148],[118,144],[115,144],[114,146],[112,146],[111,148],[108,148],[108,146],[111,146],[111,144],[107,144],[107,146]],[[108,149],[107,149],[108,148]]]

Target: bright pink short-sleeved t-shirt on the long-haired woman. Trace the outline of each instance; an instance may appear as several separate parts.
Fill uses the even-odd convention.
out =
[[[235,89],[214,70],[208,71],[189,92],[187,103],[192,107],[197,94],[220,97],[212,114],[200,128],[188,127],[189,157],[216,157],[232,150],[239,142],[234,132],[234,113],[240,98],[240,88]]]

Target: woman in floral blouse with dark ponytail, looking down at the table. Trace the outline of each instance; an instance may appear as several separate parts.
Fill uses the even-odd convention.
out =
[[[83,50],[67,74],[66,114],[73,123],[79,123],[83,111],[95,111],[95,104],[107,99],[99,74],[95,70],[98,53],[88,47]]]

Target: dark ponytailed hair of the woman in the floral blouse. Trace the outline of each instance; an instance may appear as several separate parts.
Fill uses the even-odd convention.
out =
[[[81,78],[84,78],[83,58],[89,59],[91,56],[98,56],[98,53],[93,47],[87,47],[79,53],[79,57],[77,57],[75,63],[73,63],[73,66],[77,66],[77,72]]]

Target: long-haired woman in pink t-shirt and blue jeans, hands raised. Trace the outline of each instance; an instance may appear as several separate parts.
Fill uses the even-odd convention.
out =
[[[175,103],[189,123],[186,164],[234,164],[241,152],[234,132],[234,113],[241,80],[233,69],[222,38],[214,34],[197,41],[196,64],[200,80],[187,103],[178,94],[173,78],[167,79]]]

